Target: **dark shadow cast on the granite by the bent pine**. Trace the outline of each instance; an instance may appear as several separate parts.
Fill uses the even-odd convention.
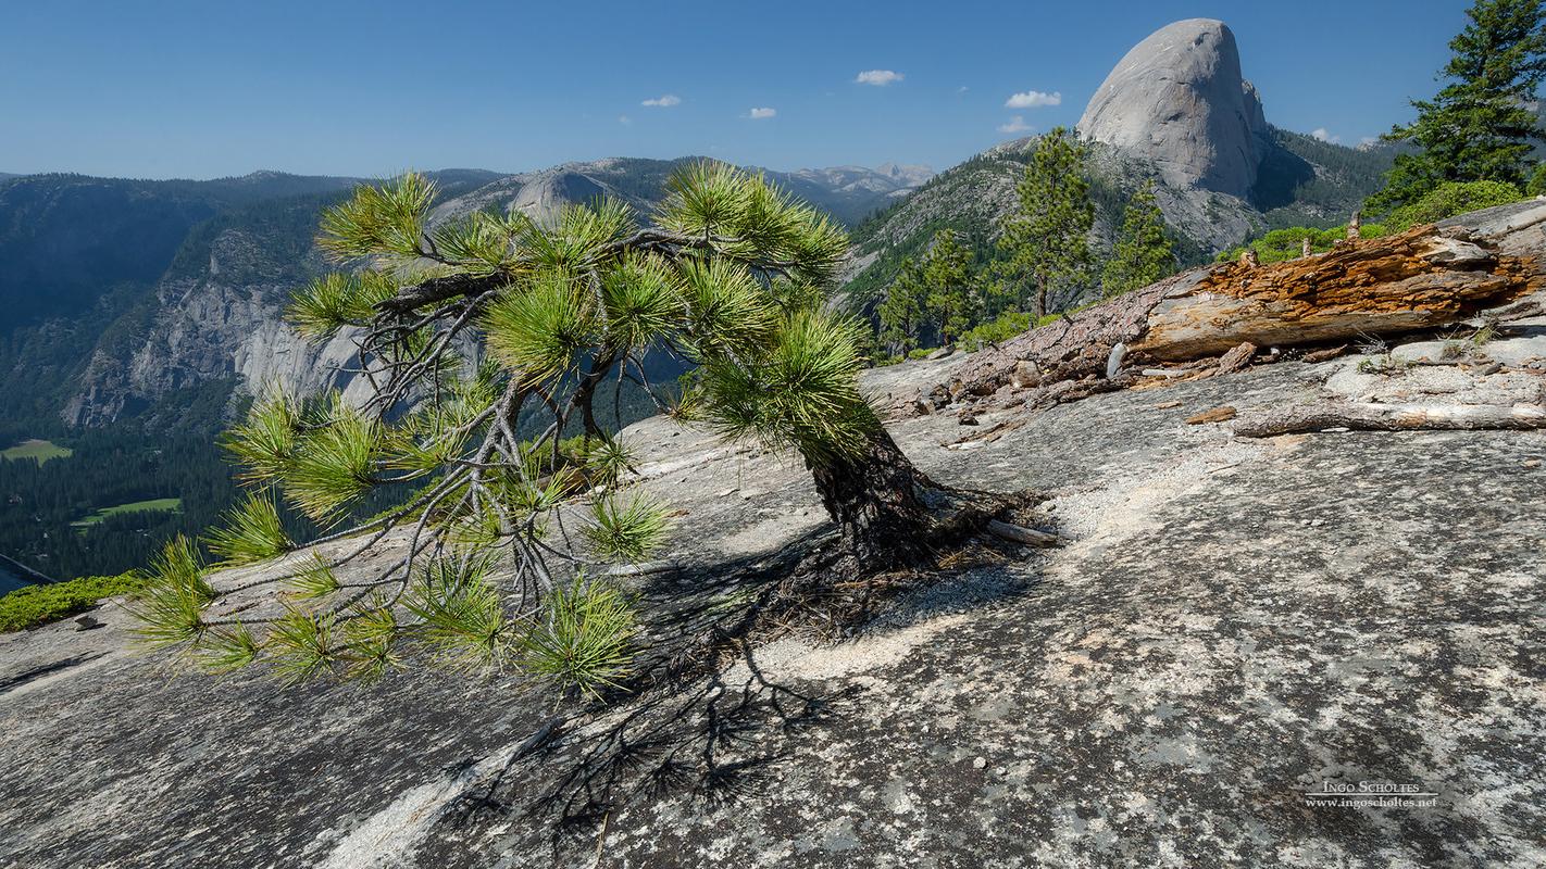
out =
[[[1002,571],[977,576],[982,571],[971,568],[1006,556],[969,543],[937,571],[877,576],[793,604],[778,597],[793,565],[807,563],[819,540],[813,533],[768,557],[646,583],[640,597],[654,639],[642,650],[635,678],[584,712],[549,719],[442,815],[447,838],[518,821],[502,835],[502,849],[543,843],[557,858],[604,838],[609,821],[632,806],[688,800],[713,810],[754,800],[809,744],[802,735],[832,727],[861,690],[818,693],[809,682],[781,682],[759,664],[758,645],[788,634],[836,639],[870,624],[897,627],[1027,588]]]

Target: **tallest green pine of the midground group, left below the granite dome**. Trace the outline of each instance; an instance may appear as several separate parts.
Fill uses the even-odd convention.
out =
[[[1062,127],[1037,139],[1016,187],[1020,207],[1003,224],[999,244],[1008,273],[1022,287],[1020,298],[1034,301],[1036,316],[1047,313],[1053,293],[1088,278],[1085,235],[1095,225],[1095,205],[1084,161],[1084,145]]]

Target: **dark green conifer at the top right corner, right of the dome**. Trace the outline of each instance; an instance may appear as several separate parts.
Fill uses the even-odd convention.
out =
[[[1418,119],[1384,136],[1421,148],[1398,154],[1368,208],[1415,202],[1450,181],[1524,187],[1532,140],[1546,140],[1531,103],[1546,79],[1546,2],[1476,0],[1450,40],[1453,57],[1432,100],[1413,100]]]

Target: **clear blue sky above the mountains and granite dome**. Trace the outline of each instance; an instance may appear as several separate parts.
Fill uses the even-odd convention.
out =
[[[1133,43],[1187,17],[1235,31],[1268,120],[1357,144],[1432,96],[1467,5],[3,0],[0,171],[945,168],[1073,125]],[[1061,99],[1005,105],[1031,91]]]

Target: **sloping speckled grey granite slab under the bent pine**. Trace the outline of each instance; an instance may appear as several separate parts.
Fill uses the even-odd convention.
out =
[[[182,675],[111,605],[6,634],[0,866],[1541,864],[1546,434],[1186,424],[1524,387],[1364,358],[900,420],[929,475],[1039,489],[1071,542],[952,557],[852,639],[788,634],[574,724],[515,678]],[[662,418],[625,440],[685,511],[685,570],[635,580],[646,656],[826,529],[796,462]],[[1306,804],[1360,783],[1436,798]]]

